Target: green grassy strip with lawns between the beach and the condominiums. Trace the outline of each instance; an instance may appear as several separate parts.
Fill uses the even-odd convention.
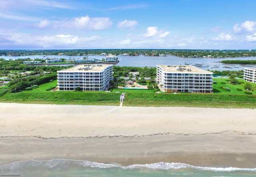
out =
[[[106,91],[46,91],[56,86],[57,80],[42,84],[39,88],[6,93],[0,97],[0,102],[42,103],[42,104],[76,104],[76,105],[120,105],[120,93],[126,92],[123,106],[185,106],[185,107],[219,107],[219,108],[250,108],[255,109],[256,90],[253,95],[244,93],[241,84],[228,84],[227,79],[214,78],[214,93],[154,93],[149,89],[113,89]],[[239,80],[247,83],[243,80]],[[226,84],[221,84],[226,82]],[[250,83],[253,87],[256,84]],[[228,87],[226,91],[220,87]],[[243,91],[238,91],[241,88]],[[116,93],[119,92],[119,93]]]

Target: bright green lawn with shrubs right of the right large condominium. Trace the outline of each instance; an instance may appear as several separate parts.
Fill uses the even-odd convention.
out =
[[[212,84],[214,94],[242,94],[242,95],[246,95],[244,93],[244,91],[246,91],[244,89],[244,84],[249,83],[249,84],[252,85],[252,87],[256,86],[256,84],[246,82],[242,79],[238,79],[238,81],[244,82],[244,84],[235,84],[235,85],[228,84],[229,82],[226,81],[226,80],[228,80],[228,78],[214,78],[213,80],[217,82],[217,84]],[[221,82],[225,82],[226,84],[221,84]],[[228,88],[230,88],[230,91],[226,91],[225,89],[222,89],[220,87],[223,87],[223,88],[228,87]],[[243,89],[243,91],[238,91],[237,88]],[[252,90],[253,90],[252,94],[255,95],[256,90],[255,89],[252,89]]]

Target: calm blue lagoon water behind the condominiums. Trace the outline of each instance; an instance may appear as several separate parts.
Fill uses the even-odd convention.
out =
[[[88,56],[88,58],[104,58],[105,56]],[[243,70],[248,67],[256,67],[256,65],[240,65],[240,64],[222,64],[222,60],[256,60],[256,57],[244,58],[180,58],[176,56],[121,56],[118,55],[119,62],[115,66],[134,66],[134,67],[156,67],[156,65],[192,65],[202,70]],[[46,59],[46,58],[83,58],[83,56],[0,56],[5,60],[16,60],[18,58],[30,59]]]

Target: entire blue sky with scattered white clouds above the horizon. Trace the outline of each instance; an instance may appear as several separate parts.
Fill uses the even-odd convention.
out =
[[[256,0],[0,0],[0,49],[256,49]]]

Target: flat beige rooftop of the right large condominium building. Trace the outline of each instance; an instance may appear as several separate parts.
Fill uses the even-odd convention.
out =
[[[188,72],[192,72],[192,73],[208,73],[208,74],[212,74],[212,72],[210,71],[206,71],[206,70],[201,70],[199,68],[196,68],[194,66],[191,65],[157,65],[158,67],[161,67],[164,72],[167,73],[188,73]]]

